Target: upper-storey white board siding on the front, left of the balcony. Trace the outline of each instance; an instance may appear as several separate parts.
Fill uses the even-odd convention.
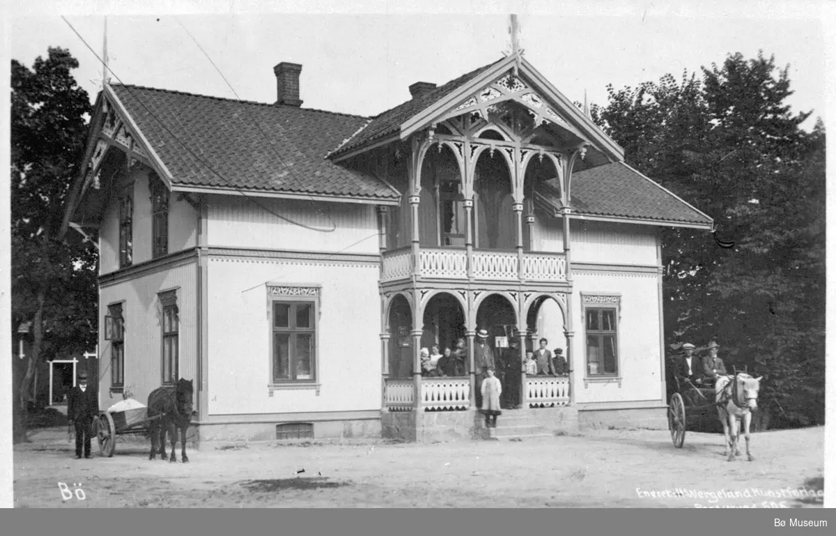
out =
[[[211,196],[210,246],[378,253],[375,207],[360,203]],[[313,231],[293,222],[333,232]]]

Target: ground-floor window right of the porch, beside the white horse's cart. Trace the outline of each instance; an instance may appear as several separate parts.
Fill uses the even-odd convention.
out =
[[[619,375],[619,305],[614,295],[583,295],[586,327],[586,375]]]

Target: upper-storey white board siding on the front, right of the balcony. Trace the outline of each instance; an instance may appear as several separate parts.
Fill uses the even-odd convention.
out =
[[[573,263],[656,266],[656,227],[609,222],[571,223]]]

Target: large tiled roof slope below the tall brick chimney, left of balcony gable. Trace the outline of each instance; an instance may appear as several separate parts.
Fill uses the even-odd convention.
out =
[[[390,186],[325,158],[368,119],[112,85],[177,186],[395,200]]]

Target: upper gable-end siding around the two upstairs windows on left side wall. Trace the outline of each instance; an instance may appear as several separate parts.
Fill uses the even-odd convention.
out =
[[[148,172],[134,171],[133,263],[144,263],[152,258],[150,191]],[[195,209],[172,194],[169,201],[168,253],[176,253],[196,245],[197,216]],[[99,233],[99,274],[119,269],[119,199],[114,197],[104,211]]]

